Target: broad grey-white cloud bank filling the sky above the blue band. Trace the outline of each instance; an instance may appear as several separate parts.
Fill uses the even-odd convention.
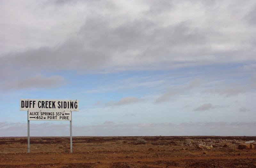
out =
[[[6,1],[0,70],[109,73],[255,61],[255,27],[245,22],[254,5]]]

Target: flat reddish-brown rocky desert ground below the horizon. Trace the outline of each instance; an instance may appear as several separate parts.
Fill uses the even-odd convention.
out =
[[[0,137],[1,168],[255,168],[256,137]]]

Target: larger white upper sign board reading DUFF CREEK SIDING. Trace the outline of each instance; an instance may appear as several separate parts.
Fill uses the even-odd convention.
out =
[[[79,111],[78,100],[20,99],[21,111]]]

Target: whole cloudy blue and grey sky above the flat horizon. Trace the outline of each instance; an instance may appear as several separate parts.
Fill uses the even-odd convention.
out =
[[[73,136],[256,136],[256,1],[0,1],[0,136],[20,99],[79,100]],[[30,136],[69,136],[31,121]]]

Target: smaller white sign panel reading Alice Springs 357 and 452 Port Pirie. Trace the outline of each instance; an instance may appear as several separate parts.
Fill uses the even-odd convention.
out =
[[[66,112],[28,111],[28,120],[29,121],[71,121],[71,111],[66,111]]]

